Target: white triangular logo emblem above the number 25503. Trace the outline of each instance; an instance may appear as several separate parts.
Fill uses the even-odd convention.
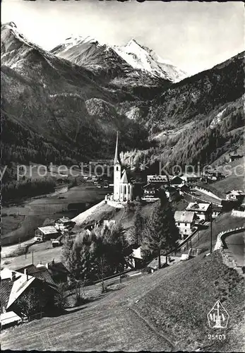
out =
[[[219,300],[208,313],[208,325],[210,328],[227,328],[229,313]]]

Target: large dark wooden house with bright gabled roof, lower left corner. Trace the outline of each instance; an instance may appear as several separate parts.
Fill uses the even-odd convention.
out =
[[[35,297],[42,299],[32,314],[40,313],[40,311],[50,313],[54,309],[54,296],[57,293],[56,285],[50,285],[44,280],[29,275],[27,270],[24,273],[8,268],[1,270],[1,313],[13,311],[22,317],[21,300],[25,294],[35,294]]]

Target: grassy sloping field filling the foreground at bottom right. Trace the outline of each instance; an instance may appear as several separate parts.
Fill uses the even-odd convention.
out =
[[[230,315],[225,341],[207,314],[220,299]],[[220,253],[138,277],[106,297],[56,318],[42,318],[1,333],[2,349],[73,351],[231,352],[242,349],[244,284]],[[169,344],[169,341],[171,344]]]

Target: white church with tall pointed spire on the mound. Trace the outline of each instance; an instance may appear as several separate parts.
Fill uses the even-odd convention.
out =
[[[114,191],[113,200],[127,202],[133,200],[133,185],[129,183],[126,170],[121,174],[121,164],[118,154],[118,133],[116,134],[116,148],[114,157]]]

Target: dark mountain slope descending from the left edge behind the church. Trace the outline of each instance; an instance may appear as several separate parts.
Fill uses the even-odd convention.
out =
[[[2,26],[1,59],[3,150],[18,150],[18,156],[4,153],[6,162],[108,157],[117,130],[124,135],[124,148],[142,147],[144,128],[114,107],[126,99],[139,100],[131,92],[116,90],[102,76],[45,52],[13,23]]]

